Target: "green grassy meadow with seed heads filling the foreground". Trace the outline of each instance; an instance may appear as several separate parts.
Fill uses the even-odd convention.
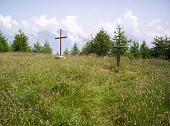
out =
[[[170,62],[0,54],[0,125],[170,125]]]

